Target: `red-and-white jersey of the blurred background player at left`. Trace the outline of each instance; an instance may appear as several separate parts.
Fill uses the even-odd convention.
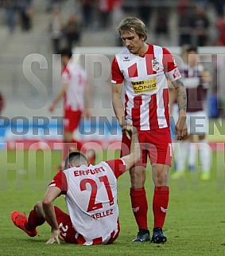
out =
[[[87,83],[84,69],[70,61],[62,73],[62,83],[68,84],[64,97],[64,109],[83,110],[84,88]]]

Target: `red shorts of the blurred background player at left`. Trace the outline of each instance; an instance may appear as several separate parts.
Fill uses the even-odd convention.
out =
[[[80,123],[81,110],[66,109],[64,112],[64,132],[73,132]]]

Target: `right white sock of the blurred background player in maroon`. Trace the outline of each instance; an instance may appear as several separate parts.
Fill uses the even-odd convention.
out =
[[[202,171],[208,172],[211,169],[211,147],[208,144],[207,140],[199,141],[199,150],[200,150],[200,161],[202,164]]]

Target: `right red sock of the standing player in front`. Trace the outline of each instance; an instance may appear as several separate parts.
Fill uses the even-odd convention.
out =
[[[165,222],[165,215],[169,203],[169,187],[155,187],[153,195],[154,227],[161,227]]]

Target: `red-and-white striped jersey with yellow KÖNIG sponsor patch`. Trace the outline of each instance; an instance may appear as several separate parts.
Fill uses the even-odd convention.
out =
[[[168,49],[149,45],[140,57],[124,49],[112,61],[113,84],[124,83],[126,120],[139,130],[169,127],[168,82],[180,78]]]

